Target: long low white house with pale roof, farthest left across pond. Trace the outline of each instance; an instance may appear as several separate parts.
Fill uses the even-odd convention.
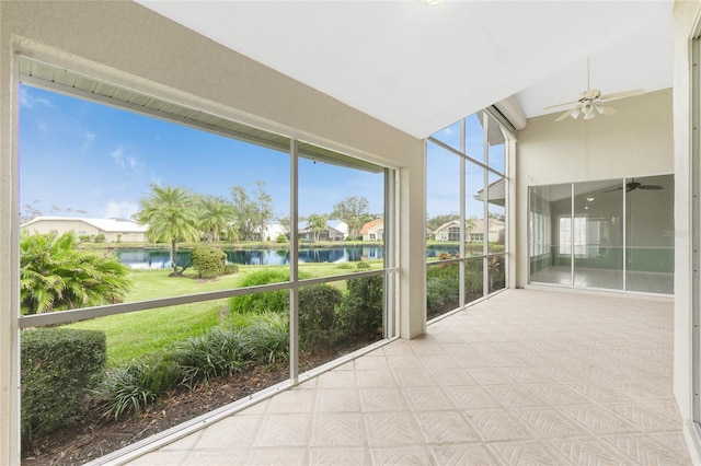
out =
[[[37,217],[21,226],[30,233],[64,234],[74,232],[78,236],[105,235],[105,242],[146,242],[146,225],[129,219],[82,219],[78,217]]]

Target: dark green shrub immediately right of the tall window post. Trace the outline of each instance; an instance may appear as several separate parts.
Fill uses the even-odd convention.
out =
[[[299,289],[299,335],[307,349],[329,348],[335,340],[334,311],[343,294],[329,284]]]

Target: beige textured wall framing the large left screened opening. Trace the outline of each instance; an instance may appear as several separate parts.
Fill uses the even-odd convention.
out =
[[[0,1],[0,464],[19,444],[18,53],[399,168],[401,336],[424,333],[423,141],[133,2]]]

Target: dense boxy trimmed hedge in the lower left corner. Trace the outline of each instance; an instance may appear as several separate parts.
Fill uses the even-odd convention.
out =
[[[95,330],[43,328],[22,331],[22,439],[73,422],[87,391],[100,382],[105,335]]]

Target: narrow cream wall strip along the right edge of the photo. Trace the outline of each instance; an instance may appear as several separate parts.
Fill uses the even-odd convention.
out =
[[[675,396],[683,419],[694,464],[701,464],[701,443],[692,426],[691,306],[691,38],[698,33],[701,1],[677,0],[674,15],[674,139],[675,139]],[[699,98],[699,96],[696,96]],[[686,232],[686,234],[685,234]]]

